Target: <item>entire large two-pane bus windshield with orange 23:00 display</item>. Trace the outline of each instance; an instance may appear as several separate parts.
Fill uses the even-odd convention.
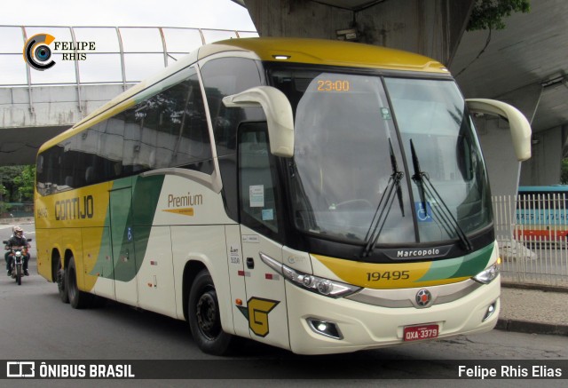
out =
[[[298,230],[407,244],[467,240],[491,224],[485,165],[452,80],[313,68],[269,74],[295,110],[288,187]]]

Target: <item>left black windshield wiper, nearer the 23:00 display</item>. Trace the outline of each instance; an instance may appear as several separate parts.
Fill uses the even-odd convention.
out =
[[[395,191],[398,195],[398,204],[400,205],[400,211],[402,212],[402,217],[405,217],[404,205],[402,202],[402,190],[400,188],[400,181],[405,176],[405,174],[398,170],[397,158],[392,150],[392,143],[389,139],[389,151],[390,151],[390,165],[392,166],[392,174],[390,174],[389,183],[381,195],[381,200],[376,207],[375,214],[371,220],[369,230],[365,235],[365,248],[363,249],[363,254],[361,257],[368,257],[371,251],[375,249],[375,243],[383,231],[383,226],[389,218],[390,207],[394,201]],[[384,202],[384,205],[383,205]],[[385,213],[386,210],[386,213]]]

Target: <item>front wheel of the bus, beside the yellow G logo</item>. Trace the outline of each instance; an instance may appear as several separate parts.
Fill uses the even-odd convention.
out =
[[[233,336],[225,333],[221,326],[217,292],[207,270],[195,277],[187,307],[193,340],[201,352],[217,356],[230,352]]]

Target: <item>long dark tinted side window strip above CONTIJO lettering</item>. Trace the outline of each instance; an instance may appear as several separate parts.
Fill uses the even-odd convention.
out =
[[[184,82],[43,152],[37,190],[57,193],[167,167],[211,173],[210,160],[205,109],[192,69]]]

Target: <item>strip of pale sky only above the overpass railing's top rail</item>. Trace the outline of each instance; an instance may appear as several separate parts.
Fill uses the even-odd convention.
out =
[[[3,0],[6,25],[255,30],[247,10],[230,0]]]

